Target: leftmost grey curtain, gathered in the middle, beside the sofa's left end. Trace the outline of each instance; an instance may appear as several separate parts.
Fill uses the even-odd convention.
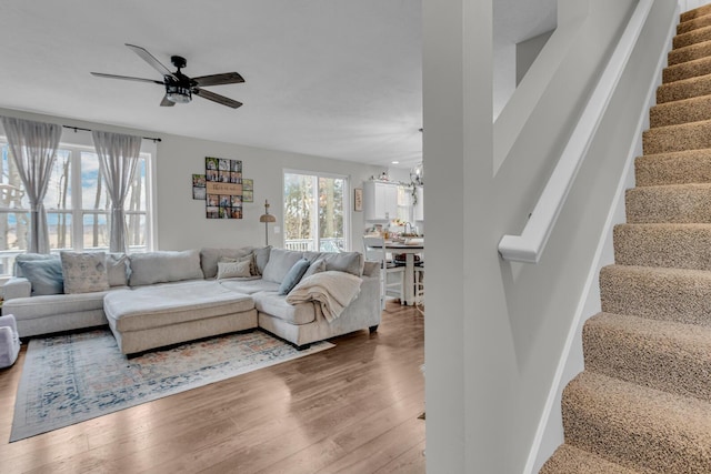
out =
[[[49,186],[61,125],[2,118],[8,143],[18,165],[20,179],[30,200],[30,241],[28,252],[49,253],[49,232],[44,194]]]

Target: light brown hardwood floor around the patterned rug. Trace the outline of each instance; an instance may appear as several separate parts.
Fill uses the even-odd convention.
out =
[[[0,473],[423,473],[424,324],[388,303],[374,334],[8,443],[24,361],[0,370]]]

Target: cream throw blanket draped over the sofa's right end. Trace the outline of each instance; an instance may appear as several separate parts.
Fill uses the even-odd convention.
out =
[[[327,271],[301,280],[287,295],[287,303],[318,301],[328,322],[341,315],[358,296],[362,279],[350,273]]]

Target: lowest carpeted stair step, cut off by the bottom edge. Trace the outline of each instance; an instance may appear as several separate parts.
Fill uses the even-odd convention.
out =
[[[570,444],[561,444],[539,474],[640,474]]]

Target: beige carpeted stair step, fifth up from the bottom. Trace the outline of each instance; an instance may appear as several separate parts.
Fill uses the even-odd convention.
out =
[[[618,224],[613,245],[620,265],[711,270],[711,224]]]

